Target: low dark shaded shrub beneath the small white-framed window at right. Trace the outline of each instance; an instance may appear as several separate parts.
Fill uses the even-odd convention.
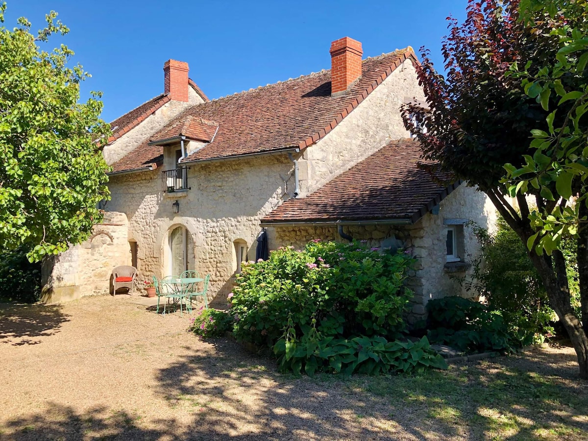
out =
[[[457,296],[427,302],[429,340],[463,352],[512,351],[523,345],[502,315],[475,300]]]

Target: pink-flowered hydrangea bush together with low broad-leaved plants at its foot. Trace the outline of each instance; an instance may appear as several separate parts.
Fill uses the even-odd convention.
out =
[[[446,368],[422,339],[396,339],[413,259],[363,243],[309,242],[245,265],[229,295],[238,340],[273,348],[280,370],[376,374]]]

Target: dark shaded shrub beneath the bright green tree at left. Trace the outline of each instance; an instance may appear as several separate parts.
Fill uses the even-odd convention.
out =
[[[0,253],[0,298],[34,303],[41,298],[41,263],[29,262],[25,249]]]

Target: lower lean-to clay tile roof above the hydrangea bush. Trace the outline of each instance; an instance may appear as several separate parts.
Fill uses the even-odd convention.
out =
[[[389,143],[306,198],[285,201],[262,223],[400,219],[414,223],[457,186],[439,185],[429,172],[419,169],[421,155],[416,141]]]

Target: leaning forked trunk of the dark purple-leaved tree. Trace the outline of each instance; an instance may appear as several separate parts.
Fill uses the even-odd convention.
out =
[[[566,262],[562,252],[553,252],[553,265],[547,256],[539,256],[534,252],[529,253],[533,265],[539,271],[549,302],[566,328],[572,345],[576,350],[580,378],[588,379],[588,338],[578,320],[572,305],[570,304],[570,290],[567,283]]]

